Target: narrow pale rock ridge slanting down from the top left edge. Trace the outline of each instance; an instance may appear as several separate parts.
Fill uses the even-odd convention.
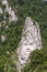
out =
[[[15,12],[12,10],[11,7],[9,7],[8,0],[1,0],[2,4],[5,6],[5,12],[8,12],[10,14],[9,20],[10,21],[17,21],[17,17],[15,16]]]

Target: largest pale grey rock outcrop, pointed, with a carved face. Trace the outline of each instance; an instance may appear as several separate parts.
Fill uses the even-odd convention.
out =
[[[19,72],[25,65],[28,60],[30,53],[36,49],[42,49],[40,30],[37,22],[34,22],[30,17],[25,20],[25,27],[23,29],[22,39],[17,48]]]

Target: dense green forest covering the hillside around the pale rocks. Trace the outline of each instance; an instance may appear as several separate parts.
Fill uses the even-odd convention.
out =
[[[16,65],[13,63],[16,60],[16,48],[22,37],[22,29],[24,27],[25,18],[28,16],[39,23],[43,49],[36,50],[31,53],[31,63],[24,68],[23,72],[45,72],[47,71],[47,3],[42,0],[8,0],[9,4],[15,11],[19,20],[17,22],[8,22],[9,14],[4,12],[0,14],[0,22],[2,22],[3,16],[7,16],[7,30],[2,22],[0,28],[0,35],[7,34],[8,39],[2,42],[0,39],[0,72],[16,72]],[[5,8],[3,4],[0,7]],[[8,54],[7,51],[10,53]],[[14,59],[12,59],[14,55]],[[5,69],[4,69],[5,68]]]

